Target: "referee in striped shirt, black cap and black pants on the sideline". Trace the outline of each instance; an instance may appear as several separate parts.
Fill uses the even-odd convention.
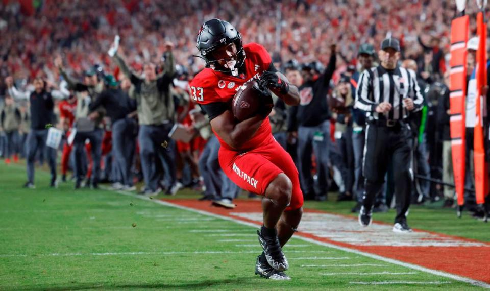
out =
[[[384,39],[378,55],[381,64],[364,70],[359,78],[355,102],[367,116],[363,163],[365,191],[359,223],[370,225],[374,198],[391,162],[397,208],[393,231],[411,232],[406,218],[412,185],[411,135],[405,120],[409,112],[422,109],[423,97],[415,72],[397,65],[400,58],[397,39]]]

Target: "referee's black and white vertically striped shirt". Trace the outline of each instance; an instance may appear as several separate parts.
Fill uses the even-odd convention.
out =
[[[415,72],[402,67],[387,70],[380,65],[364,70],[359,77],[356,92],[355,107],[367,111],[368,116],[375,119],[406,118],[408,110],[403,106],[404,98],[413,100],[413,111],[421,110],[424,102]],[[381,102],[390,103],[391,110],[384,114],[376,112]]]

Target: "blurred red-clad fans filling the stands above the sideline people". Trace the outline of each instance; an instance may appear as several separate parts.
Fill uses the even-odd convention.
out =
[[[169,13],[171,11],[171,13]],[[471,13],[471,7],[467,11]],[[105,53],[115,34],[135,66],[175,43],[177,63],[199,70],[193,58],[200,25],[218,17],[233,23],[246,42],[264,45],[278,62],[328,61],[328,45],[342,53],[338,67],[355,63],[360,43],[378,45],[387,33],[402,42],[404,56],[422,57],[418,38],[447,53],[454,1],[8,1],[0,7],[0,67],[18,78],[52,69],[56,54],[81,74],[94,63],[110,66]],[[471,30],[475,25],[471,23]],[[422,60],[420,60],[422,61]]]

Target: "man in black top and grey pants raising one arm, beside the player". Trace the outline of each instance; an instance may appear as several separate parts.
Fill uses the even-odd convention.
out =
[[[335,71],[336,46],[332,45],[327,68],[321,74],[320,64],[312,62],[303,67],[303,85],[299,87],[300,105],[291,107],[288,132],[297,132],[301,188],[305,199],[323,200],[328,190],[330,141],[330,112],[327,93]],[[311,177],[311,155],[316,157],[318,188],[315,193]]]

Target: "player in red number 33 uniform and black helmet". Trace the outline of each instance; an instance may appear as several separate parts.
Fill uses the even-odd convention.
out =
[[[267,116],[273,107],[271,91],[295,106],[300,102],[298,88],[276,70],[263,46],[243,45],[241,34],[227,21],[206,21],[198,33],[197,48],[206,68],[189,85],[219,139],[219,164],[240,188],[264,196],[263,225],[257,231],[263,252],[257,257],[255,274],[289,280],[281,248],[300,223],[303,194],[295,164],[272,136]],[[231,101],[241,85],[254,80],[259,83],[260,110],[238,122]]]

